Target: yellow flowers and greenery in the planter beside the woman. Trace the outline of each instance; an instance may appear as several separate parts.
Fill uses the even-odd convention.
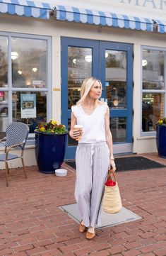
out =
[[[50,119],[49,122],[41,122],[38,123],[37,127],[35,128],[35,131],[40,133],[55,133],[55,134],[63,134],[67,133],[66,126],[63,124],[57,123],[57,121],[53,121]]]

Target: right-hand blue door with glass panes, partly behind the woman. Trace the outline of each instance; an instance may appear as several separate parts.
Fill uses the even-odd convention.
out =
[[[132,152],[132,51],[129,44],[100,42],[102,98],[109,106],[114,153]]]

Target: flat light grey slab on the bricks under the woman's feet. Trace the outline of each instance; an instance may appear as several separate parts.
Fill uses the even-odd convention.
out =
[[[74,221],[80,223],[81,216],[78,211],[77,204],[68,204],[66,206],[59,206],[61,210],[66,211],[66,213],[73,218]],[[126,223],[130,221],[139,220],[141,217],[136,215],[136,213],[129,211],[128,209],[122,207],[121,211],[116,214],[109,214],[102,211],[102,226],[98,226],[98,228],[103,228],[107,226],[115,226],[121,223]]]

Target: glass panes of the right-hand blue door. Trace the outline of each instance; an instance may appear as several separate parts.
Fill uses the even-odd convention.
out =
[[[105,50],[106,101],[112,109],[126,108],[126,52]],[[126,142],[126,118],[110,118],[114,143]]]

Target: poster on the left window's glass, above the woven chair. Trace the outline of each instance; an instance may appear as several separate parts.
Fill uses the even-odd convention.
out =
[[[20,117],[36,118],[36,94],[20,94]]]

